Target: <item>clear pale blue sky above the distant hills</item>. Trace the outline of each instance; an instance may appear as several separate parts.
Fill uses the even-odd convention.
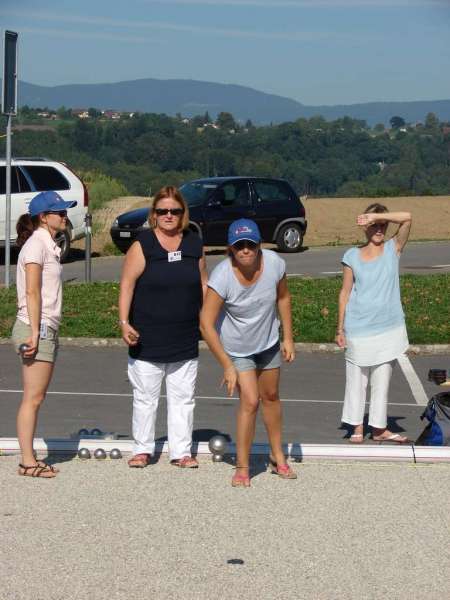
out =
[[[450,98],[450,0],[0,0],[19,77],[237,83],[304,104]]]

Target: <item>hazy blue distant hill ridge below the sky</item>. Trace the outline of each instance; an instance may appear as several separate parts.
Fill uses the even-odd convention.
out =
[[[300,117],[321,115],[327,120],[349,116],[369,125],[388,124],[398,115],[409,123],[424,121],[434,112],[450,120],[450,100],[416,102],[369,102],[336,106],[306,106],[282,96],[266,94],[249,87],[189,79],[138,79],[118,83],[72,84],[44,87],[19,82],[19,103],[30,107],[112,109],[166,113],[174,116],[204,114],[212,117],[230,112],[240,121],[255,124],[281,123]]]

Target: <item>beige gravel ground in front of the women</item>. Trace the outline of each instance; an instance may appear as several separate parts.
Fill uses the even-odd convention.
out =
[[[260,462],[244,490],[206,457],[60,460],[43,481],[0,458],[1,600],[450,597],[450,465]]]

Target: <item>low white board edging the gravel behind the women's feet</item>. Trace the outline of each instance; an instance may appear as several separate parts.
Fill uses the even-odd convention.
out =
[[[123,453],[132,451],[133,440],[93,440],[93,439],[61,439],[36,438],[34,449],[37,451],[76,454],[79,448],[93,451],[103,448],[106,452],[119,448]],[[168,451],[167,442],[157,444],[157,452]],[[19,452],[17,438],[0,438],[0,454],[17,454]],[[197,454],[211,455],[207,442],[193,444]],[[230,444],[229,455],[235,454],[235,445]],[[450,447],[447,446],[412,446],[408,445],[351,445],[351,444],[285,444],[284,450],[291,458],[304,459],[334,459],[353,461],[404,461],[404,462],[450,462]],[[253,444],[253,455],[268,456],[268,444]]]

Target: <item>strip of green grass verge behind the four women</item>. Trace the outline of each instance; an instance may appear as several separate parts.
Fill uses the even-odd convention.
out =
[[[400,278],[412,344],[450,343],[450,275]],[[296,342],[332,342],[341,278],[289,279]],[[117,283],[65,285],[60,335],[119,337]],[[0,289],[0,337],[8,337],[16,314],[15,288]]]

